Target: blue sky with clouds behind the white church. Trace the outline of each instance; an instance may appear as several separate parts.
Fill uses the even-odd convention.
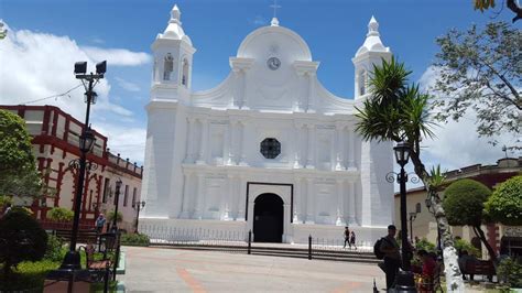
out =
[[[471,0],[278,2],[282,7],[278,10],[280,25],[294,30],[307,42],[314,59],[320,62],[319,80],[330,91],[346,98],[351,98],[354,93],[351,57],[365,41],[371,15],[380,23],[384,45],[390,46],[395,56],[413,70],[413,82],[417,82],[432,64],[438,50],[435,44],[437,36],[452,28],[485,24],[493,17],[492,12],[475,11]],[[0,66],[10,64],[12,67],[8,70],[1,66],[4,67],[3,70],[0,68],[0,74],[4,75],[0,75],[1,79],[9,78],[11,70],[24,67],[21,77],[30,75],[30,80],[46,82],[40,86],[32,83],[13,85],[21,78],[9,85],[6,80],[0,82],[3,83],[0,84],[0,104],[20,104],[64,93],[77,84],[72,74],[74,61],[87,56],[94,64],[101,61],[104,54],[112,54],[112,61],[108,57],[107,80],[99,89],[102,100],[98,109],[96,105],[94,107],[93,127],[109,137],[112,150],[130,156],[131,161],[141,162],[146,128],[143,107],[149,100],[152,66],[150,45],[165,29],[174,3],[182,11],[185,33],[197,48],[193,72],[193,88],[196,90],[214,87],[222,80],[230,69],[229,56],[236,55],[239,44],[251,31],[268,25],[273,13],[270,0],[2,0],[0,19],[9,26],[10,40],[0,42],[0,53],[8,52],[14,57],[0,55]],[[497,20],[511,21],[511,12],[503,9]],[[57,50],[51,47],[53,42],[56,42]],[[42,52],[34,47],[29,50],[32,44],[50,47]],[[67,47],[72,50],[67,51]],[[29,52],[34,57],[23,58]],[[122,57],[124,54],[128,54],[127,59]],[[40,58],[44,61],[40,62]],[[70,72],[54,83],[53,76],[59,79],[57,76],[63,75],[57,68]],[[35,73],[41,72],[43,74],[39,77]],[[74,98],[80,99],[81,90],[77,91],[70,97],[51,98],[34,105],[55,104],[83,119],[85,105],[69,102]],[[470,139],[469,143],[476,141]],[[482,152],[471,153],[465,159],[459,155],[457,162],[433,153],[428,159],[443,162],[448,169],[467,163],[491,163],[503,156],[500,150],[491,148],[485,144]]]

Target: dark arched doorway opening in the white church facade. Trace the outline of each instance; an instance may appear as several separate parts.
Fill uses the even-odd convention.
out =
[[[253,241],[282,242],[283,199],[273,193],[258,196],[253,206]]]

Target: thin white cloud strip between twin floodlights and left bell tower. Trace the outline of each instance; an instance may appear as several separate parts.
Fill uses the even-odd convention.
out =
[[[146,64],[152,59],[146,53],[131,52],[124,48],[83,46],[81,51],[84,51],[93,61],[107,61],[111,66],[137,66]]]

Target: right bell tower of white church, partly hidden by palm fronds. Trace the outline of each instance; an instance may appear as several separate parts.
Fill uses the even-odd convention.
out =
[[[369,94],[368,83],[373,65],[380,65],[382,58],[390,61],[391,56],[390,47],[385,47],[382,44],[379,34],[379,22],[377,22],[376,18],[371,17],[365,43],[359,47],[356,56],[351,58],[355,66],[354,97],[356,100]]]

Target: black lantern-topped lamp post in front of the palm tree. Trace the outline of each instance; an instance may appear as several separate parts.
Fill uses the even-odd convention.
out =
[[[400,142],[393,148],[395,153],[395,161],[401,166],[401,173],[398,175],[400,193],[401,193],[401,254],[402,254],[402,269],[404,272],[398,274],[395,289],[398,291],[413,291],[415,292],[415,282],[413,273],[411,272],[410,263],[410,243],[407,242],[407,218],[406,218],[406,182],[407,175],[404,172],[404,165],[410,160],[410,145],[405,142]],[[413,287],[412,287],[413,284]]]

